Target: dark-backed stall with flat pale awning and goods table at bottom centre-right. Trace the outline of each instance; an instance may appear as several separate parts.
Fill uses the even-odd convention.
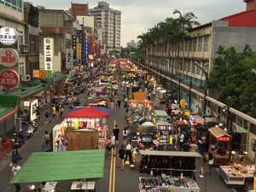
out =
[[[154,177],[140,177],[139,189],[145,191],[199,192],[195,182],[196,152],[140,150],[141,172],[150,172]],[[138,163],[136,160],[136,164]]]

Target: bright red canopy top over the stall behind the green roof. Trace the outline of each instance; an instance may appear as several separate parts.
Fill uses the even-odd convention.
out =
[[[65,118],[106,118],[109,114],[96,108],[79,108],[67,113]]]

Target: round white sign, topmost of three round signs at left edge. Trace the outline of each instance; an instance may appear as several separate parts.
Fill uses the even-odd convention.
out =
[[[13,27],[3,26],[0,29],[0,43],[10,46],[16,43],[17,41],[17,31]]]

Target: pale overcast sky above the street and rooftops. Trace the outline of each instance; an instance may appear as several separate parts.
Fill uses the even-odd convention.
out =
[[[68,9],[71,0],[32,0],[34,5],[43,5],[47,9]],[[73,3],[89,3],[93,8],[98,0],[73,0]],[[226,15],[245,10],[242,0],[106,0],[113,9],[122,11],[121,44],[146,32],[156,23],[172,16],[174,9],[183,12],[192,11],[201,24],[218,20]]]

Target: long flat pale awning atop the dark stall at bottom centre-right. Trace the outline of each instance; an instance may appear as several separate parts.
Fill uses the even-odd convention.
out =
[[[156,151],[156,150],[140,150],[139,154],[153,155],[153,156],[172,156],[172,157],[202,157],[197,152],[183,152],[183,151]]]

